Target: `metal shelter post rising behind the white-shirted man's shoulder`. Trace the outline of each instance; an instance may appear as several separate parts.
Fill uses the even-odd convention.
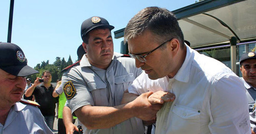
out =
[[[237,38],[231,37],[230,41],[230,58],[231,58],[231,70],[237,74]]]

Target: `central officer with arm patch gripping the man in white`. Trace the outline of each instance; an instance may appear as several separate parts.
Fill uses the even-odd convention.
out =
[[[82,46],[87,54],[80,65],[63,73],[63,91],[84,133],[144,133],[142,120],[154,119],[161,105],[148,102],[152,93],[121,104],[141,70],[134,59],[114,53],[112,29],[102,17],[83,21]]]

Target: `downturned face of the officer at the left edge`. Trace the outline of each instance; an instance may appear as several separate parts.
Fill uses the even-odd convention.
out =
[[[0,69],[0,104],[18,102],[26,87],[26,77],[17,77]]]

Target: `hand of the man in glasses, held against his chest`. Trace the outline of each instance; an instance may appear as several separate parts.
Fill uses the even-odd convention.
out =
[[[170,92],[158,91],[148,97],[148,102],[151,104],[163,104],[164,102],[174,101],[175,95]]]

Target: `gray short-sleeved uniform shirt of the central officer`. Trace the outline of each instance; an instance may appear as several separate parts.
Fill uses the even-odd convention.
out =
[[[102,70],[92,66],[84,55],[80,65],[62,75],[62,82],[71,81],[76,90],[73,98],[67,100],[72,113],[84,105],[120,105],[124,91],[141,74],[141,69],[136,68],[134,59],[121,56],[114,53],[108,69]],[[143,123],[138,118],[131,118],[107,129],[90,130],[81,123],[79,125],[84,133],[144,133]]]

